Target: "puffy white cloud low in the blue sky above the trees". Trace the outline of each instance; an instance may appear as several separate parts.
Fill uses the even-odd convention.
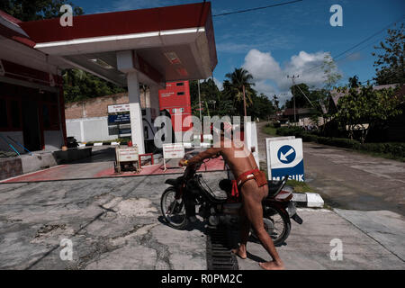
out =
[[[250,49],[242,67],[253,76],[259,93],[264,93],[270,98],[273,94],[277,94],[283,103],[291,97],[289,89],[292,79],[287,78],[288,75],[299,75],[295,81],[296,84],[305,83],[310,87],[323,85],[325,74],[320,65],[326,56],[329,56],[329,52],[301,51],[298,55],[293,55],[282,67],[270,52]]]

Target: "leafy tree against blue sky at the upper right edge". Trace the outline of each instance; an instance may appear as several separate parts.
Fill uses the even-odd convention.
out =
[[[404,23],[401,27],[388,30],[388,37],[380,42],[379,46],[374,46],[374,49],[380,52],[373,52],[373,56],[377,56],[374,61],[375,77],[377,85],[385,84],[404,84],[405,83],[405,36]]]

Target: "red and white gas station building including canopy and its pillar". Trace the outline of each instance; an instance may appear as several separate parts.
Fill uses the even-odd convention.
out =
[[[61,71],[76,67],[128,86],[132,142],[144,153],[139,83],[150,89],[147,108],[158,111],[166,82],[211,76],[211,3],[80,15],[66,27],[58,18],[21,22],[0,12],[0,60],[0,135],[31,150],[60,148],[67,137]],[[1,139],[0,149],[10,150]]]

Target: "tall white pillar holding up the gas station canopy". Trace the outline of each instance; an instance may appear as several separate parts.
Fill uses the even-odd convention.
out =
[[[145,153],[143,139],[142,112],[140,110],[140,91],[138,72],[127,74],[128,96],[130,98],[130,132],[132,143],[138,146],[139,154]]]

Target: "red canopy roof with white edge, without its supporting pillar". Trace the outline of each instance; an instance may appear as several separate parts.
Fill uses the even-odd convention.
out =
[[[132,51],[139,82],[204,79],[217,64],[211,4],[184,4],[18,23],[33,48],[62,59],[60,68],[78,67],[118,85],[127,85],[117,52]]]

